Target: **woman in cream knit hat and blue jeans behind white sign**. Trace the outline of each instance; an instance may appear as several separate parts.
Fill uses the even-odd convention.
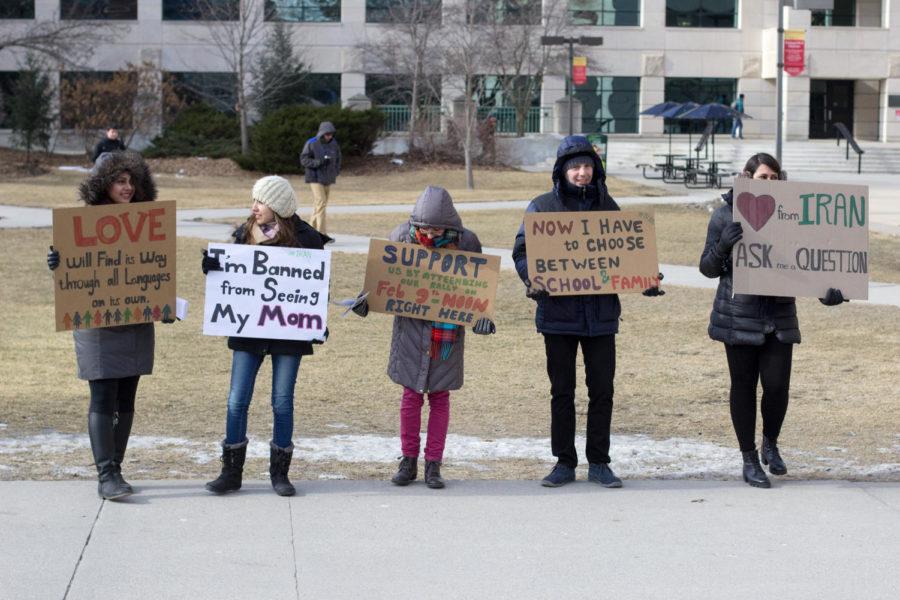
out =
[[[295,213],[297,196],[290,182],[271,175],[253,185],[250,217],[238,227],[234,243],[321,250],[328,237],[313,229]],[[220,271],[219,259],[203,251],[203,273]],[[320,342],[321,343],[321,342]],[[269,450],[269,476],[280,496],[293,496],[294,486],[288,479],[294,444],[294,385],[300,359],[313,353],[307,341],[229,337],[228,347],[234,351],[231,362],[231,389],[225,439],[222,442],[222,472],[206,484],[215,494],[241,489],[244,460],[247,456],[247,411],[253,398],[256,375],[266,355],[272,357],[273,432]]]

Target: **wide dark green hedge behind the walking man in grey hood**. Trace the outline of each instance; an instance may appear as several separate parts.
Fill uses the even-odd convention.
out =
[[[316,135],[319,123],[331,121],[341,154],[365,156],[372,150],[384,115],[380,110],[355,111],[338,106],[295,105],[270,113],[250,132],[250,154],[235,156],[244,169],[265,173],[302,173],[300,152]]]

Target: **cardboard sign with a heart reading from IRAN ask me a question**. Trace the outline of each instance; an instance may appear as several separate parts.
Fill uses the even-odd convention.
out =
[[[860,185],[735,179],[734,292],[868,298],[868,196]]]

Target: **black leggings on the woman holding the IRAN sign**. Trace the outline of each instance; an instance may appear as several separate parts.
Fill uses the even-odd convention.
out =
[[[763,435],[778,439],[787,413],[791,387],[791,352],[793,344],[783,344],[774,333],[766,336],[762,346],[725,344],[728,371],[731,373],[731,422],[742,452],[756,448],[756,386],[762,381],[760,412]]]

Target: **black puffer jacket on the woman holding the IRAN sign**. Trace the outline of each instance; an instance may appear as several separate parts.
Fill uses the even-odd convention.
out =
[[[737,346],[762,346],[766,334],[775,332],[778,341],[800,343],[797,304],[793,298],[732,294],[731,252],[722,255],[716,243],[722,230],[733,221],[732,191],[722,195],[725,206],[713,213],[706,231],[706,246],[700,257],[700,272],[719,278],[716,299],[709,316],[709,337]]]

